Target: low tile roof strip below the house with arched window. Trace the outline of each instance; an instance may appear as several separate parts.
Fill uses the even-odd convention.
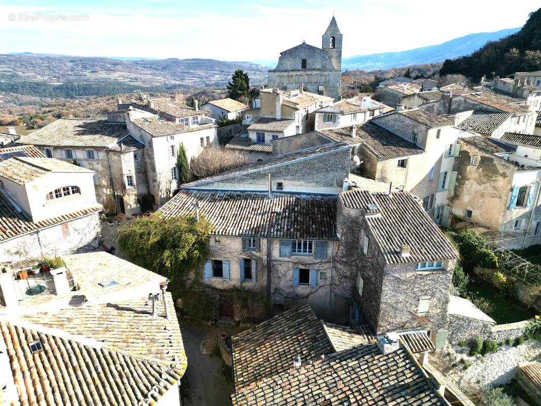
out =
[[[78,217],[96,213],[102,209],[103,206],[96,205],[72,213],[66,213],[52,219],[32,222],[23,213],[18,212],[3,192],[0,191],[0,241],[20,237],[21,235],[38,231],[40,228],[60,224],[65,221],[75,220]]]

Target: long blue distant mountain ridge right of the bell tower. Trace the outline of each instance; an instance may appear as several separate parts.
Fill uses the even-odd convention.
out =
[[[342,58],[342,69],[389,69],[422,63],[436,63],[450,58],[471,54],[489,41],[514,34],[520,28],[509,28],[495,32],[478,32],[443,44],[410,49],[400,52],[386,52],[372,55],[357,55]]]

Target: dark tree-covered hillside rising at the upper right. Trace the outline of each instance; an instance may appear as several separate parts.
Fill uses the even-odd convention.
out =
[[[516,34],[489,42],[469,56],[448,59],[440,75],[459,73],[478,80],[483,75],[509,75],[541,68],[541,9],[530,14]]]

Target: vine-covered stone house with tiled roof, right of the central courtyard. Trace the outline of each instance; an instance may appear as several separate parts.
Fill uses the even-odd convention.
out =
[[[458,253],[407,192],[340,194],[337,273],[357,270],[352,318],[376,333],[423,328],[437,346],[447,330],[447,304]],[[346,253],[341,254],[340,250]]]

